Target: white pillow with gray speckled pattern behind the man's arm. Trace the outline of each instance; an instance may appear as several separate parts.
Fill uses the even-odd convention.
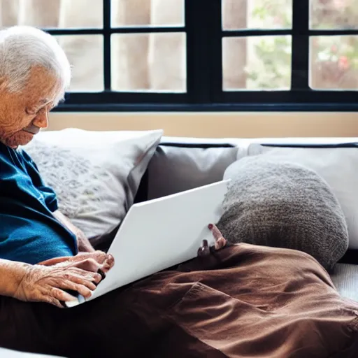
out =
[[[163,131],[44,131],[24,146],[59,210],[88,238],[123,220]]]

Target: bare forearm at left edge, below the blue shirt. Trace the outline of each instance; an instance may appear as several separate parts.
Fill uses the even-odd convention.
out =
[[[14,297],[30,264],[0,259],[0,295]]]

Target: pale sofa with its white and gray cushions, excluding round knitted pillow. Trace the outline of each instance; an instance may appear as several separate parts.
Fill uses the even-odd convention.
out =
[[[133,203],[222,180],[230,164],[257,155],[258,146],[311,166],[334,189],[350,244],[331,279],[342,296],[358,301],[358,138],[180,138],[161,130],[64,129],[44,131],[24,149],[57,191],[60,210],[101,247]],[[1,357],[45,357],[1,350]]]

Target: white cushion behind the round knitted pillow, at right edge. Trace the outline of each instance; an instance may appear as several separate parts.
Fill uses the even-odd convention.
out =
[[[253,143],[248,155],[289,158],[313,169],[334,192],[348,224],[349,248],[358,249],[358,145],[352,148],[288,148]]]

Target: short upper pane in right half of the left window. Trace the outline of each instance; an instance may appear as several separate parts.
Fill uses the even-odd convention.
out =
[[[111,0],[111,26],[184,26],[184,0]]]

